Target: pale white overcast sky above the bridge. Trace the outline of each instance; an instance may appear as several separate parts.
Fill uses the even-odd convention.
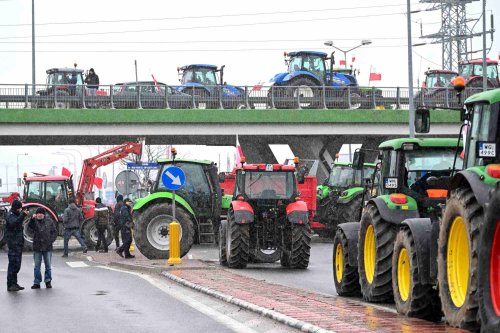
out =
[[[412,10],[429,7],[410,0]],[[245,6],[242,6],[245,4]],[[307,6],[304,6],[307,4]],[[500,17],[500,1],[487,1]],[[478,17],[481,2],[468,5]],[[31,83],[31,1],[0,0],[0,83]],[[225,80],[236,85],[268,81],[285,69],[283,52],[330,53],[326,40],[342,50],[372,41],[347,54],[368,85],[370,68],[382,74],[379,86],[408,86],[405,0],[164,1],[35,0],[36,78],[45,83],[53,67],[93,67],[102,84],[157,80],[175,85],[177,67],[190,63],[226,65]],[[439,11],[412,14],[413,43],[421,33],[437,32]],[[477,25],[478,28],[482,23]],[[488,19],[489,28],[489,19]],[[489,56],[500,54],[500,33]],[[481,47],[481,38],[474,42]],[[491,45],[488,36],[488,47]],[[478,55],[479,56],[479,55]],[[336,51],[337,63],[343,53]],[[439,45],[414,48],[415,83],[441,64]],[[374,70],[373,70],[374,69]]]

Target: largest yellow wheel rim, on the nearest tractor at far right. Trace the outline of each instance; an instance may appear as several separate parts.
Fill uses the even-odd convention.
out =
[[[459,308],[467,297],[470,260],[469,237],[461,216],[455,217],[451,225],[446,259],[451,300]]]

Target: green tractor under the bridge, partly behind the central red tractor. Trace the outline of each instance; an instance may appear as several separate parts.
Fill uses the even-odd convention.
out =
[[[365,163],[361,170],[355,170],[352,163],[334,162],[332,170],[316,192],[315,219],[321,229],[315,229],[324,237],[332,237],[337,225],[359,221],[363,206],[363,192],[366,179],[371,179],[375,164]]]

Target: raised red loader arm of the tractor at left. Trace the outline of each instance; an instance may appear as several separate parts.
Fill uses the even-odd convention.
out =
[[[80,182],[76,190],[76,204],[82,205],[83,200],[85,199],[85,194],[92,191],[97,168],[125,158],[128,154],[135,154],[140,157],[141,153],[142,143],[126,142],[120,146],[113,147],[103,153],[100,153],[99,155],[84,160]]]

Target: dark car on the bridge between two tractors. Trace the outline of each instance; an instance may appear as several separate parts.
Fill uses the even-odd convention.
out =
[[[192,106],[190,95],[174,89],[165,83],[155,81],[123,82],[113,86],[114,106],[118,109],[139,106],[137,89],[140,88],[140,101],[144,109],[186,109]]]

